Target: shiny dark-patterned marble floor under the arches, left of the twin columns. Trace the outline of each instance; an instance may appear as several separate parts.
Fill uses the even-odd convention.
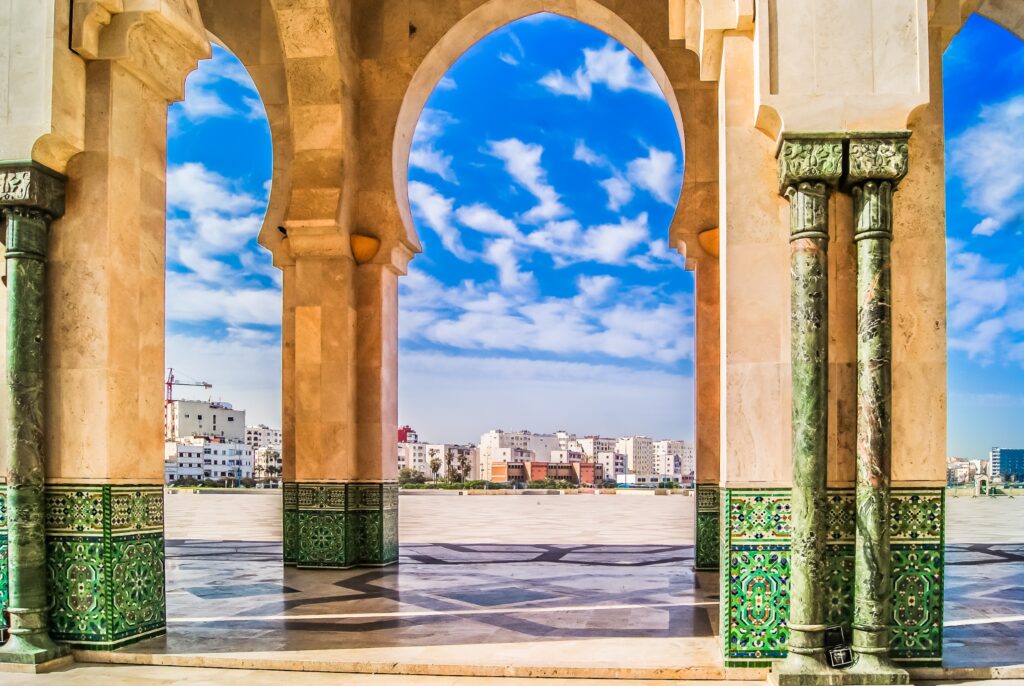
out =
[[[691,546],[400,551],[390,567],[304,570],[273,542],[168,541],[168,636],[132,651],[713,635],[717,589],[696,588]]]

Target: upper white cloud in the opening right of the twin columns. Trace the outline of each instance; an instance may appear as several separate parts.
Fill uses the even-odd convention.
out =
[[[1024,219],[1024,95],[981,111],[980,121],[949,143],[949,171],[966,205],[982,215],[975,235],[992,235]]]

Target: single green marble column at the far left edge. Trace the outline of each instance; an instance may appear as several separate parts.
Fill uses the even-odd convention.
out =
[[[11,637],[0,662],[67,654],[47,632],[43,462],[46,233],[63,214],[66,179],[40,165],[0,163],[7,260],[7,519]]]

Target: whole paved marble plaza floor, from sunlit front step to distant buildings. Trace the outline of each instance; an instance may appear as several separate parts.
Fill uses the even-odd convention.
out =
[[[723,666],[687,496],[404,496],[399,563],[349,570],[283,566],[276,492],[178,491],[166,507],[167,635],[78,659],[437,683],[764,678]],[[947,500],[945,671],[918,679],[1024,673],[1022,517],[1022,498]]]

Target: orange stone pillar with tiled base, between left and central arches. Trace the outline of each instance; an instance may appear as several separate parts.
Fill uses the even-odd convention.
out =
[[[397,559],[397,416],[384,410],[397,401],[397,370],[387,369],[397,360],[396,275],[357,265],[334,226],[289,225],[286,244],[285,562],[389,564]],[[359,384],[368,372],[385,380],[383,393]]]

